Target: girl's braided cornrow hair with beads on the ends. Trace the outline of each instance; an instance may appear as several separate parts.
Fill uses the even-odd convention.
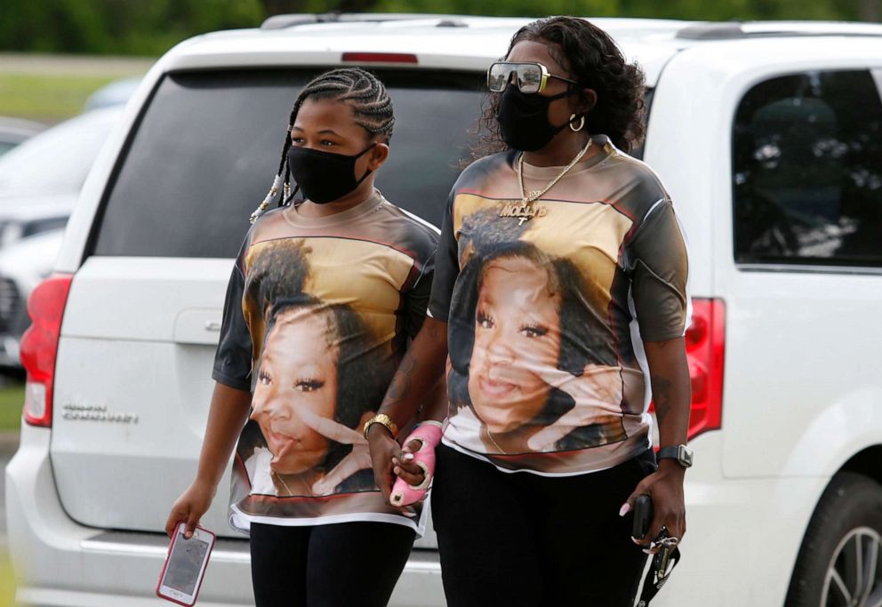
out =
[[[293,193],[289,193],[291,167],[288,166],[288,149],[291,148],[291,130],[297,119],[297,113],[303,102],[310,98],[345,101],[355,114],[356,124],[365,129],[372,138],[378,137],[383,143],[389,143],[392,138],[395,127],[392,99],[377,76],[362,68],[338,68],[313,78],[303,87],[297,100],[294,101],[291,116],[288,117],[288,129],[285,131],[285,142],[282,144],[282,156],[279,159],[276,178],[269,188],[269,194],[252,213],[252,223],[269,208],[269,201],[276,197],[279,187],[283,188],[279,206],[287,204],[297,193],[296,189]]]

